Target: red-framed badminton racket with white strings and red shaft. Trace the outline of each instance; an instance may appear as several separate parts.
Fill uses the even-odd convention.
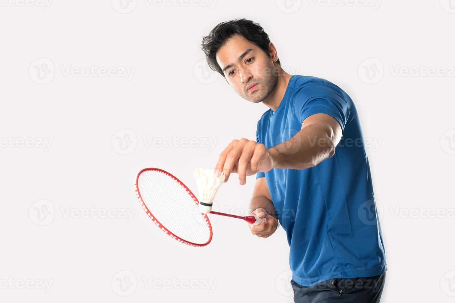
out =
[[[162,169],[142,169],[135,183],[137,199],[150,219],[162,231],[181,243],[202,247],[212,241],[212,224],[207,214],[199,211],[199,201],[190,189],[174,175]],[[252,225],[265,218],[217,214],[243,219]]]

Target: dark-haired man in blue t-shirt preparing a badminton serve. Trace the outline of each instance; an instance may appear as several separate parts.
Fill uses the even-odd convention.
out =
[[[256,141],[233,140],[215,174],[237,173],[240,185],[256,174],[250,210],[266,220],[250,228],[268,238],[283,226],[294,301],[379,302],[387,263],[352,100],[327,80],[284,72],[253,21],[218,24],[202,50],[243,99],[269,108]]]

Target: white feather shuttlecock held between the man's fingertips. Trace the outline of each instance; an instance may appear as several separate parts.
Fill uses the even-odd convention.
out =
[[[196,179],[197,189],[199,190],[199,210],[202,214],[208,214],[212,210],[213,199],[225,177],[224,173],[215,177],[213,169],[194,170],[194,179]]]

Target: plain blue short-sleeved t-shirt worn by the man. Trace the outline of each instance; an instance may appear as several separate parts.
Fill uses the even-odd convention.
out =
[[[359,116],[351,98],[327,80],[293,75],[278,108],[258,121],[267,148],[292,138],[304,119],[329,114],[343,129],[335,154],[308,169],[272,169],[266,178],[290,246],[293,280],[303,286],[332,278],[371,277],[387,263]],[[318,144],[304,138],[301,144]],[[288,146],[293,153],[298,144]]]

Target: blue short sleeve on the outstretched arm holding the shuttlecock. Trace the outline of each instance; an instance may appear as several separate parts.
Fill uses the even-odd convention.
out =
[[[328,114],[344,131],[349,119],[349,96],[338,86],[329,82],[311,84],[309,88],[298,90],[293,99],[293,110],[300,123],[313,114]]]

